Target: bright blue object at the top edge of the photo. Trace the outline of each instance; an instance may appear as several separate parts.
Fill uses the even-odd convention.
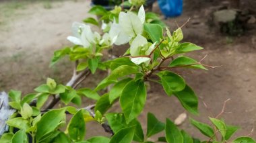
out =
[[[158,5],[166,17],[176,17],[183,11],[183,0],[158,0]]]

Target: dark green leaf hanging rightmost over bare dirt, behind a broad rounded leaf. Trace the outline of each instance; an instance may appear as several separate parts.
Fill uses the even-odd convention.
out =
[[[174,92],[173,94],[179,99],[181,105],[183,105],[187,111],[195,115],[198,114],[198,99],[191,87],[186,85],[185,89]]]

